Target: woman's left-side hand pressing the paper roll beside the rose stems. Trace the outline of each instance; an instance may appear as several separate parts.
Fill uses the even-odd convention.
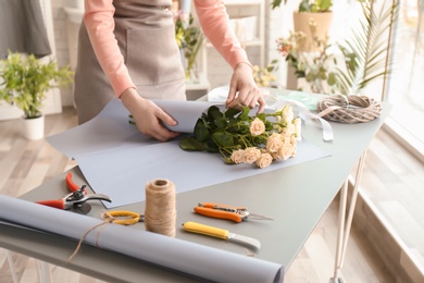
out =
[[[172,132],[162,125],[164,123],[175,126],[176,121],[151,100],[140,97],[134,88],[122,93],[121,101],[132,113],[140,133],[161,142],[170,140],[179,135],[179,133]]]

